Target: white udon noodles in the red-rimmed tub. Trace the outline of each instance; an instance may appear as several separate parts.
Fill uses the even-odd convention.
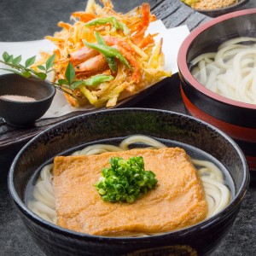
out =
[[[207,89],[239,102],[256,104],[256,38],[234,38],[217,52],[191,61],[192,74]]]

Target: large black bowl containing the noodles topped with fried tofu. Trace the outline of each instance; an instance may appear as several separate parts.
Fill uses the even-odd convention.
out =
[[[212,154],[230,172],[234,186],[230,205],[195,226],[158,236],[113,238],[90,236],[49,224],[24,203],[28,181],[47,161],[67,149],[88,143],[143,134],[168,139]],[[212,125],[168,111],[123,108],[67,119],[33,138],[17,154],[9,172],[9,192],[33,239],[47,255],[203,255],[218,246],[234,223],[248,186],[240,148]],[[130,254],[129,254],[130,253]]]

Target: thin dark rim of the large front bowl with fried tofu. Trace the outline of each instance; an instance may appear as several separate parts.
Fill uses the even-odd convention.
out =
[[[158,113],[168,113],[171,115],[177,115],[181,116],[184,119],[193,119],[200,125],[206,125],[212,131],[218,132],[222,137],[224,137],[229,143],[233,145],[233,147],[236,149],[237,154],[239,154],[243,166],[243,181],[241,183],[241,189],[239,189],[236,193],[236,196],[233,198],[233,200],[230,202],[228,207],[225,207],[224,210],[221,212],[218,212],[218,214],[214,215],[212,218],[208,218],[207,220],[202,221],[199,224],[195,224],[194,226],[191,226],[189,228],[184,228],[182,230],[176,230],[172,232],[166,232],[160,235],[154,235],[154,236],[143,236],[143,237],[108,237],[108,236],[93,236],[89,234],[83,234],[80,232],[76,232],[73,230],[67,230],[64,228],[61,228],[55,224],[51,224],[48,221],[44,220],[43,218],[40,218],[37,214],[32,212],[28,207],[26,207],[25,203],[20,199],[19,195],[17,195],[15,191],[15,185],[13,183],[14,180],[14,171],[15,171],[15,165],[16,162],[19,160],[20,155],[23,154],[24,151],[26,151],[26,148],[33,142],[37,141],[38,137],[41,137],[48,131],[55,129],[55,127],[64,125],[67,122],[72,122],[74,119],[78,118],[86,118],[87,115],[93,115],[93,114],[104,114],[104,113],[111,113],[111,112],[133,112],[133,111],[141,111],[141,112],[158,112]],[[207,122],[204,122],[200,119],[196,119],[192,116],[183,114],[183,113],[176,113],[172,111],[167,111],[167,110],[160,110],[160,109],[154,109],[154,108],[116,108],[116,109],[108,109],[108,110],[102,110],[98,112],[93,112],[93,113],[84,113],[79,116],[75,116],[70,119],[66,119],[64,121],[61,121],[60,123],[53,125],[46,129],[45,131],[42,131],[39,133],[36,137],[33,137],[32,140],[30,140],[26,145],[20,149],[20,152],[15,156],[15,160],[13,161],[10,170],[9,170],[9,176],[8,176],[8,187],[9,187],[9,194],[11,195],[12,199],[15,201],[16,206],[20,209],[20,212],[26,215],[26,217],[32,219],[33,222],[36,222],[43,226],[47,230],[52,230],[56,233],[59,233],[64,236],[69,236],[73,237],[76,239],[87,239],[88,241],[108,241],[108,242],[135,242],[135,241],[148,241],[151,240],[152,237],[168,237],[168,236],[184,236],[187,233],[190,232],[197,232],[199,230],[203,230],[207,228],[210,224],[214,224],[216,221],[224,218],[224,216],[227,216],[230,214],[230,212],[233,212],[234,209],[236,209],[237,205],[241,204],[242,199],[246,195],[247,192],[247,187],[249,185],[249,171],[248,171],[248,166],[247,166],[247,160],[245,159],[244,154],[241,151],[241,148],[233,141],[232,138],[230,138],[228,135],[226,135],[223,131],[218,130],[213,125],[208,124]]]

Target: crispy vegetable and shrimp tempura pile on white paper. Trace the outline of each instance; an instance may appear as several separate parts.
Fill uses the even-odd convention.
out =
[[[171,76],[163,69],[162,40],[155,42],[156,34],[145,34],[150,22],[156,20],[149,4],[120,14],[113,10],[111,1],[101,2],[89,0],[85,11],[73,13],[73,24],[61,21],[61,31],[46,37],[57,47],[53,66],[56,80],[66,78],[69,63],[75,80],[83,82],[98,75],[111,78],[93,85],[81,83],[73,90],[63,88],[75,96],[65,95],[73,107],[113,107],[119,100]],[[43,53],[40,64],[48,57]]]

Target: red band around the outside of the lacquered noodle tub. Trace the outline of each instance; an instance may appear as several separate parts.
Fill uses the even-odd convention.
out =
[[[232,125],[230,123],[226,123],[219,119],[215,119],[211,115],[201,111],[200,108],[197,108],[192,102],[190,102],[189,98],[184,94],[182,87],[181,87],[181,95],[183,97],[183,102],[186,108],[188,108],[189,110],[189,113],[195,116],[195,118],[204,120],[207,123],[216,126],[218,129],[224,131],[230,137],[247,141],[250,143],[256,143],[256,129],[245,128],[238,125]]]

